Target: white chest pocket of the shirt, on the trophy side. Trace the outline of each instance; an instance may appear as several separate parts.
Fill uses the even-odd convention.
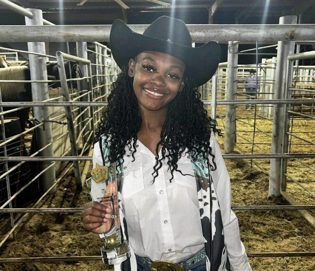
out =
[[[141,158],[132,162],[129,157],[123,166],[122,198],[127,199],[144,189]]]

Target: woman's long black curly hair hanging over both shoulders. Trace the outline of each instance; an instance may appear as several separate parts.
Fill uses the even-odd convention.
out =
[[[161,146],[161,153],[156,158],[153,168],[153,181],[158,176],[162,161],[166,159],[168,169],[173,179],[174,170],[178,169],[179,158],[187,153],[192,159],[202,155],[203,159],[212,157],[211,170],[216,169],[214,154],[209,146],[211,131],[221,135],[216,129],[215,120],[207,115],[207,111],[200,101],[197,87],[188,74],[184,75],[183,91],[169,103],[166,120],[160,134],[156,152]],[[133,78],[128,75],[128,64],[122,67],[117,82],[113,83],[113,90],[108,97],[108,105],[104,108],[101,121],[96,132],[95,142],[104,136],[105,144],[109,148],[110,163],[123,161],[125,146],[132,151],[132,158],[137,151],[137,134],[141,126],[141,117],[138,114],[138,102],[133,91]],[[184,174],[183,174],[184,175]]]

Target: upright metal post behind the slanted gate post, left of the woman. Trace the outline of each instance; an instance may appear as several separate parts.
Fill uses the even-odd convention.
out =
[[[86,42],[77,42],[77,55],[80,58],[87,59],[87,43]],[[79,63],[79,70],[82,73],[82,77],[88,76],[87,66],[84,65],[83,63]],[[89,84],[88,84],[87,80],[81,80],[80,81],[80,89],[82,91],[87,91],[89,89]],[[82,98],[80,98],[80,102],[88,102],[88,100],[89,100],[88,95],[84,95]],[[84,127],[86,125],[86,131],[91,131],[91,129],[92,129],[91,122],[89,120],[90,117],[91,117],[90,110],[86,110],[82,114],[82,119],[85,120],[82,123],[82,127]],[[83,132],[82,135],[84,135],[84,134],[86,134],[86,133]],[[84,136],[84,142],[86,142],[87,140],[88,140],[88,134],[86,134]]]

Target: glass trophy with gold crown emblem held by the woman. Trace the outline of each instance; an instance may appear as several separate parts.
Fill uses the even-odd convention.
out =
[[[104,242],[101,253],[104,264],[117,265],[130,257],[130,249],[127,240],[121,235],[116,163],[110,167],[99,166],[91,171],[90,193],[92,199],[112,209],[113,226],[107,233],[103,233]],[[87,183],[89,185],[89,183]]]

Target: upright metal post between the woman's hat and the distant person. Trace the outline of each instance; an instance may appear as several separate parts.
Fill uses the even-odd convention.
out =
[[[229,41],[228,67],[227,67],[227,90],[225,99],[236,100],[237,91],[237,58],[238,44]],[[234,150],[236,139],[236,105],[227,105],[225,111],[225,138],[224,152],[231,153]]]

